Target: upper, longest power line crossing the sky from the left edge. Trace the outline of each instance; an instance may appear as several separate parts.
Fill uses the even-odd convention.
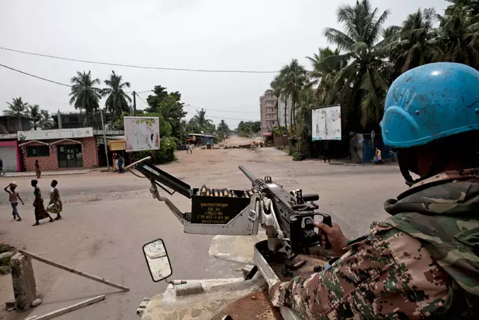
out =
[[[0,47],[0,49],[6,50],[6,51],[12,51],[12,52],[16,52],[16,53],[28,54],[28,55],[31,55],[31,56],[40,56],[40,57],[44,57],[44,58],[53,58],[53,59],[68,60],[68,61],[75,61],[75,62],[84,62],[84,63],[91,63],[91,64],[105,64],[107,66],[125,66],[125,67],[128,67],[128,68],[137,68],[137,69],[191,71],[191,72],[208,72],[208,73],[278,73],[279,72],[279,71],[246,71],[246,70],[215,70],[215,69],[183,69],[183,68],[167,68],[167,67],[164,67],[164,66],[137,66],[137,65],[134,65],[134,64],[99,62],[99,61],[81,60],[81,59],[75,59],[75,58],[65,58],[65,57],[60,57],[60,56],[51,56],[51,55],[48,55],[48,54],[21,51],[21,50],[10,49],[10,48],[5,48],[5,47]]]

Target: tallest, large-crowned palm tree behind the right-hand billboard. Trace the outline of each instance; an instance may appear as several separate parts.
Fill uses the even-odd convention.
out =
[[[342,5],[337,11],[339,23],[343,23],[344,32],[326,28],[324,35],[341,50],[340,58],[349,64],[341,68],[334,80],[339,92],[329,92],[328,98],[337,95],[342,104],[361,116],[361,127],[376,128],[383,112],[383,100],[387,92],[388,73],[391,64],[383,60],[384,53],[378,46],[378,39],[389,11],[378,16],[368,0],[358,0],[356,5]],[[359,110],[357,110],[359,106]],[[354,127],[354,125],[353,125]]]

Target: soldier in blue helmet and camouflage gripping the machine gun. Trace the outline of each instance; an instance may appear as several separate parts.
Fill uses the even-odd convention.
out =
[[[478,319],[479,72],[445,62],[407,71],[389,88],[381,128],[411,188],[386,201],[392,217],[366,236],[347,241],[318,223],[340,258],[274,284],[274,306],[305,319]]]

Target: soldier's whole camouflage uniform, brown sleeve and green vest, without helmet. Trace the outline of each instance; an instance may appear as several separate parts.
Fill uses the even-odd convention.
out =
[[[479,169],[419,182],[385,209],[393,217],[330,269],[274,284],[274,306],[305,319],[478,319]]]

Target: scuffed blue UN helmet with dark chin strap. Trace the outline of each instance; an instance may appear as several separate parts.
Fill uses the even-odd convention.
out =
[[[383,142],[398,149],[399,160],[403,149],[479,130],[479,72],[438,62],[403,73],[387,92],[380,126]],[[400,167],[403,172],[401,161]]]

